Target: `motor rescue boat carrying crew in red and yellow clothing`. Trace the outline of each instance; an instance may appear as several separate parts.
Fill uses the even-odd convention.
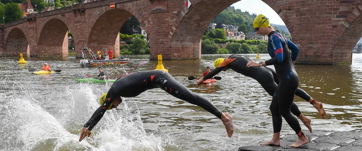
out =
[[[109,59],[108,54],[105,50],[106,48],[103,48],[103,53],[101,60],[98,60],[98,57],[94,55],[92,50],[90,50],[88,47],[83,47],[82,50],[82,57],[83,60],[80,60],[79,64],[81,67],[92,67],[92,66],[108,66],[108,65],[124,65],[128,64],[129,58],[116,58],[116,59]]]

